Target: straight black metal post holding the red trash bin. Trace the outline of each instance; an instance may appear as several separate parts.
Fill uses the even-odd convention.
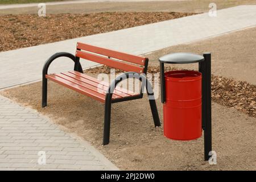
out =
[[[204,63],[203,63],[204,62]],[[209,160],[212,151],[212,96],[211,96],[211,55],[204,53],[203,61],[203,115],[204,118],[204,160]]]

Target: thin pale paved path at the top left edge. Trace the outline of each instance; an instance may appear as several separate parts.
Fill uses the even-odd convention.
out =
[[[144,2],[144,1],[157,1],[157,0],[77,0],[77,1],[46,2],[46,5],[53,6],[53,5],[70,5],[70,4],[89,3],[89,2]],[[193,1],[193,0],[161,0],[161,1]],[[35,7],[38,5],[39,3],[0,5],[0,10],[12,9],[12,8],[23,8],[23,7]]]

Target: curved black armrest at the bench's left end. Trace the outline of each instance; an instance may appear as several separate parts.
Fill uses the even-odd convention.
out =
[[[81,64],[79,62],[79,58],[77,59],[74,55],[72,55],[71,53],[68,53],[68,52],[57,52],[54,55],[52,55],[51,57],[49,57],[49,59],[46,61],[46,63],[44,63],[43,77],[45,77],[48,74],[49,65],[52,63],[53,60],[57,59],[58,57],[69,57],[75,63],[74,71],[83,73]]]

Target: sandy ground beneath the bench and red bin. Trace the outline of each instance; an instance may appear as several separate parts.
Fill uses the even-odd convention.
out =
[[[48,106],[40,107],[41,82],[5,91],[4,96],[48,115],[68,132],[88,140],[121,169],[256,170],[256,119],[213,103],[213,150],[217,165],[203,160],[203,137],[190,142],[163,137],[154,128],[147,97],[113,104],[110,143],[102,146],[104,105],[49,82]],[[160,118],[162,104],[157,101]],[[125,117],[124,117],[125,116]]]

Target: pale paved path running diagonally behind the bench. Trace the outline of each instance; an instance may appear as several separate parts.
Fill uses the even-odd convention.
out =
[[[256,5],[237,6],[218,10],[215,18],[204,13],[104,34],[0,52],[0,88],[40,80],[46,59],[55,52],[74,53],[76,42],[90,43],[141,55],[177,44],[255,26],[255,17]],[[83,60],[81,63],[84,68],[96,65]],[[49,71],[59,72],[72,67],[72,61],[63,59],[53,63]]]

